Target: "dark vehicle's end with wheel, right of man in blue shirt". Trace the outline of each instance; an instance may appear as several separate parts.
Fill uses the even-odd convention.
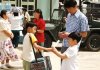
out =
[[[86,16],[88,18],[90,32],[84,44],[91,51],[100,50],[100,3],[84,2],[87,4]]]

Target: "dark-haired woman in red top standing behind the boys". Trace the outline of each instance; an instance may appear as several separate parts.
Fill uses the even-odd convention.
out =
[[[37,32],[36,32],[36,38],[38,40],[38,45],[44,46],[45,36],[44,36],[44,30],[45,30],[45,21],[43,20],[43,15],[41,9],[36,9],[34,11],[34,20],[33,22],[37,25]]]

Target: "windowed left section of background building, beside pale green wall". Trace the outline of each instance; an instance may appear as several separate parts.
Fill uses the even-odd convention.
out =
[[[24,7],[29,12],[31,18],[33,17],[33,11],[35,9],[35,0],[0,0],[1,9],[5,9],[5,5],[11,4],[11,6]]]

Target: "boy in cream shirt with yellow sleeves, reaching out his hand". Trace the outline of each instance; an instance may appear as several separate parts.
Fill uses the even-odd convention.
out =
[[[23,59],[23,67],[24,70],[30,70],[30,62],[35,60],[34,57],[34,53],[33,53],[33,48],[36,50],[52,50],[51,48],[44,48],[42,46],[37,45],[37,39],[35,37],[35,33],[36,33],[36,29],[37,26],[36,24],[32,23],[32,22],[28,22],[26,24],[26,35],[24,37],[24,41],[23,41],[23,52],[22,52],[22,59]],[[33,48],[32,48],[32,44],[30,41],[30,37],[32,39],[32,44],[33,44]]]

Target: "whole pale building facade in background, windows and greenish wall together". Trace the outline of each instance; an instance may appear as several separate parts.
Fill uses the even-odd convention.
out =
[[[59,0],[0,0],[0,5],[3,6],[0,10],[5,9],[6,4],[26,8],[31,18],[33,18],[34,9],[39,8],[42,10],[45,20],[50,19],[53,9],[59,8]]]

